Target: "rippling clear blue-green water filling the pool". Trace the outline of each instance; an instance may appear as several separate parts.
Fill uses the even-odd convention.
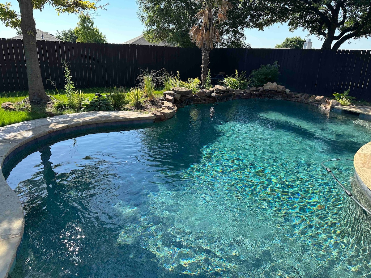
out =
[[[26,212],[12,278],[371,277],[371,220],[321,168],[369,124],[235,100],[35,146],[5,169]],[[329,166],[351,189],[352,162]]]

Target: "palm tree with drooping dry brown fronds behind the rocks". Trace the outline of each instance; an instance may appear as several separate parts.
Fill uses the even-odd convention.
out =
[[[204,0],[201,10],[194,16],[196,24],[191,28],[191,41],[202,50],[201,86],[204,87],[209,72],[210,50],[220,42],[217,24],[227,20],[227,11],[232,5],[226,0]],[[217,16],[214,18],[214,14]]]

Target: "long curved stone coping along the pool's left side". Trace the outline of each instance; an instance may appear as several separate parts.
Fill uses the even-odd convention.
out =
[[[12,271],[24,231],[22,204],[1,171],[7,160],[35,141],[47,140],[61,133],[150,123],[155,118],[151,114],[131,111],[98,111],[30,120],[0,128],[0,278],[8,277]]]

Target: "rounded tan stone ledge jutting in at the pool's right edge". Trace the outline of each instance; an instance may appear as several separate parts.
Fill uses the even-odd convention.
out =
[[[371,196],[371,142],[363,145],[354,155],[355,177],[361,187]],[[368,190],[367,190],[368,189]]]

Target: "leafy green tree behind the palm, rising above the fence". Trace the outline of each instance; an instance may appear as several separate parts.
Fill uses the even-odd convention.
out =
[[[219,25],[220,47],[250,47],[243,30],[247,27],[249,11],[242,0],[231,0],[228,19]],[[167,42],[173,46],[194,47],[188,35],[197,22],[200,0],[137,0],[138,17],[145,26],[144,37],[150,42]]]

